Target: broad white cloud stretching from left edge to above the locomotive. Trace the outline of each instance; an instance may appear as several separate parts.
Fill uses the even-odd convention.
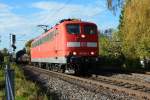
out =
[[[30,34],[38,24],[51,24],[63,18],[89,19],[104,9],[90,5],[65,4],[58,2],[35,2],[29,5],[39,12],[21,16],[13,13],[13,7],[0,3],[0,34],[14,32],[16,34]],[[17,9],[17,8],[15,8]],[[18,8],[20,9],[20,7]]]

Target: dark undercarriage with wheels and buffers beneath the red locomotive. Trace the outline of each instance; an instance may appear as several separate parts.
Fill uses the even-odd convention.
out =
[[[98,57],[68,57],[67,63],[46,63],[33,62],[36,67],[44,68],[51,71],[66,73],[66,74],[81,74],[86,73],[90,69],[90,65],[98,63]]]

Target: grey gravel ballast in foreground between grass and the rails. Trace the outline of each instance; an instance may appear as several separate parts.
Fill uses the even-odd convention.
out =
[[[32,74],[32,75],[31,75]],[[63,81],[59,78],[37,72],[28,73],[31,79],[38,81],[46,87],[47,91],[57,94],[60,100],[137,100],[138,98],[129,96],[125,93],[116,93],[109,89],[102,88],[99,92],[93,92],[75,84]],[[31,77],[32,76],[32,77]],[[55,98],[54,98],[55,99]]]

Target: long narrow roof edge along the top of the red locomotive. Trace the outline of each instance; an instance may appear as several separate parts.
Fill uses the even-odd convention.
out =
[[[92,23],[92,22],[86,22],[86,21],[81,21],[81,20],[76,20],[76,19],[61,20],[61,21],[60,21],[58,24],[56,24],[54,27],[48,29],[47,32],[45,32],[45,33],[41,34],[40,36],[36,37],[36,38],[33,40],[33,42],[36,42],[37,40],[39,40],[39,39],[41,39],[42,37],[46,36],[49,32],[51,32],[51,31],[57,29],[57,27],[58,27],[59,25],[61,25],[61,24],[68,24],[68,23],[79,23],[79,24],[80,24],[80,23],[85,23],[85,24],[93,24],[93,25],[96,25],[96,24],[94,24],[94,23]],[[32,43],[33,43],[33,42],[32,42]]]

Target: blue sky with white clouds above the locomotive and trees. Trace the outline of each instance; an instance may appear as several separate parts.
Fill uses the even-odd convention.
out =
[[[52,27],[61,19],[79,18],[96,23],[99,30],[115,29],[119,14],[107,9],[106,0],[0,0],[0,50],[10,48],[10,34],[16,35],[17,50],[22,49],[43,32],[37,25]]]

